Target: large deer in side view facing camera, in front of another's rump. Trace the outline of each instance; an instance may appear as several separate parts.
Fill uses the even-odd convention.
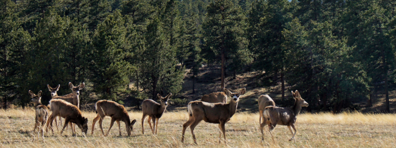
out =
[[[215,123],[219,125],[220,136],[219,144],[221,142],[221,134],[223,133],[224,143],[227,144],[225,123],[227,123],[231,117],[236,113],[239,98],[244,95],[246,88],[243,88],[238,93],[232,93],[228,89],[224,88],[225,94],[231,96],[231,100],[228,104],[225,103],[207,103],[202,101],[192,101],[188,104],[189,120],[183,124],[182,131],[182,143],[184,143],[184,133],[187,127],[190,126],[191,134],[193,135],[194,143],[197,144],[195,138],[194,128],[202,120],[208,123]]]

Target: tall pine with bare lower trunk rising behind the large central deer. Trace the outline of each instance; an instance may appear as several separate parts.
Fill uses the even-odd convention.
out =
[[[206,59],[221,63],[221,88],[225,86],[225,62],[231,55],[238,56],[245,48],[243,35],[244,15],[231,0],[215,0],[206,8],[206,20],[202,25]],[[242,23],[242,24],[241,24]]]

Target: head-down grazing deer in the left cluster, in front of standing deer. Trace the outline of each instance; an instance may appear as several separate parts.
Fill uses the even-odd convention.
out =
[[[85,135],[87,135],[88,119],[82,116],[81,111],[77,108],[77,106],[61,99],[52,99],[51,101],[49,101],[49,107],[49,110],[52,111],[52,113],[49,116],[49,122],[47,122],[47,132],[49,124],[51,124],[51,130],[53,133],[52,121],[56,116],[60,116],[65,118],[65,123],[62,130],[60,131],[60,134],[63,133],[63,130],[67,126],[67,123],[71,122],[77,124],[81,131],[85,133]],[[74,132],[75,131],[72,130],[73,135],[75,135]]]

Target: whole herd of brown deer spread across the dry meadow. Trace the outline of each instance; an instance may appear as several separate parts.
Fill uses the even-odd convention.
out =
[[[35,133],[36,128],[38,128],[38,137],[40,137],[41,133],[44,140],[44,128],[46,128],[47,133],[48,129],[50,129],[53,134],[54,132],[52,128],[52,122],[55,121],[56,128],[58,129],[58,126],[61,126],[61,118],[64,118],[65,121],[63,124],[63,128],[60,131],[60,134],[62,134],[63,130],[69,125],[72,131],[72,135],[75,135],[75,125],[77,125],[77,127],[81,129],[82,133],[84,133],[85,136],[88,131],[88,118],[84,117],[79,109],[80,90],[84,88],[85,83],[74,86],[71,82],[69,82],[69,88],[72,90],[72,93],[65,96],[58,96],[56,93],[57,91],[59,91],[60,85],[56,86],[55,88],[52,88],[49,85],[47,86],[49,91],[51,92],[51,100],[49,101],[48,106],[45,106],[41,103],[41,97],[43,94],[42,91],[39,91],[39,93],[36,95],[29,90],[29,96],[32,98],[31,102],[33,103],[36,111],[36,121],[33,132]],[[245,88],[237,93],[233,93],[228,89],[223,88],[223,92],[214,92],[211,94],[203,95],[200,101],[190,102],[187,106],[189,119],[186,123],[183,124],[181,142],[184,142],[184,134],[187,127],[190,127],[194,143],[197,144],[194,129],[199,124],[199,122],[203,120],[208,123],[218,124],[218,127],[220,129],[219,143],[221,143],[222,135],[224,138],[224,143],[226,143],[227,141],[225,135],[225,123],[227,123],[236,113],[240,97],[244,95],[245,92]],[[301,111],[301,107],[307,107],[308,103],[301,98],[297,90],[295,92],[292,91],[292,94],[293,98],[295,99],[295,104],[291,108],[276,107],[275,102],[268,95],[261,95],[257,99],[262,140],[264,140],[264,126],[268,125],[269,132],[272,136],[271,131],[275,128],[276,125],[279,124],[286,125],[289,128],[290,132],[293,135],[293,137],[289,141],[294,140],[296,142],[295,135],[297,130],[295,127],[295,123],[297,120],[297,115]],[[227,96],[231,97],[229,103],[227,103]],[[152,134],[157,134],[159,118],[161,118],[161,116],[165,112],[166,107],[168,106],[168,101],[171,99],[171,97],[172,93],[169,93],[165,97],[157,94],[159,103],[151,99],[143,101],[142,134],[145,134],[144,121],[147,116],[148,125],[150,126]],[[95,104],[95,111],[97,113],[97,116],[93,119],[92,122],[91,135],[94,134],[95,123],[98,120],[100,131],[103,136],[108,135],[114,122],[117,122],[119,135],[121,136],[120,121],[123,121],[125,123],[128,136],[131,135],[131,131],[133,132],[133,125],[136,123],[136,119],[131,121],[128,111],[124,108],[124,106],[114,101],[99,100]],[[107,130],[106,134],[104,134],[102,128],[102,122],[105,116],[111,117],[110,127]],[[150,120],[152,121],[152,125]]]

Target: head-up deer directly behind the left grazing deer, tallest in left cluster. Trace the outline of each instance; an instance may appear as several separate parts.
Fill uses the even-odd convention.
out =
[[[60,85],[58,85],[58,86],[60,86]],[[72,93],[68,94],[68,95],[65,95],[65,96],[56,95],[56,96],[53,96],[52,99],[64,100],[64,101],[66,101],[68,103],[71,103],[72,105],[77,106],[77,108],[80,109],[80,98],[79,98],[79,95],[80,95],[80,90],[83,89],[84,86],[85,86],[85,83],[81,83],[78,86],[74,86],[71,82],[69,82],[69,88],[72,90]],[[51,96],[52,96],[52,93],[51,93]],[[56,123],[56,121],[55,121],[55,123]],[[74,132],[76,132],[76,129],[75,129],[75,127],[73,126],[73,124],[71,122],[69,122],[69,125],[70,125],[70,128]],[[51,124],[51,126],[52,126],[52,124]]]

